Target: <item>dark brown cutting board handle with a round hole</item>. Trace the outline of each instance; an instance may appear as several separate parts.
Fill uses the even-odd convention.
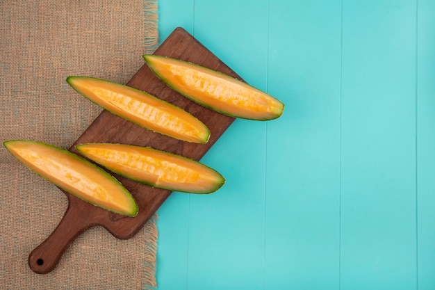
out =
[[[33,272],[45,274],[53,270],[69,244],[92,226],[86,221],[88,216],[71,208],[67,208],[58,227],[28,256],[28,266]]]

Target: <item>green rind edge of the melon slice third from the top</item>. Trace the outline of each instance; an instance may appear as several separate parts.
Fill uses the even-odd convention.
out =
[[[87,158],[93,160],[92,157],[87,156],[87,155],[85,154],[85,152],[83,152],[83,150],[81,150],[81,146],[83,146],[83,145],[88,145],[88,144],[92,144],[92,143],[83,143],[83,144],[76,145],[76,150],[79,151],[81,154],[83,154],[83,156],[85,156],[85,157],[87,157]],[[138,147],[138,146],[133,146],[133,145],[129,145],[129,146],[131,146],[131,147]],[[147,148],[150,149],[150,150],[154,150],[154,151],[156,151],[156,152],[163,152],[163,151],[161,151],[161,150],[156,150],[156,149],[151,148],[151,147],[147,147]],[[181,155],[178,155],[178,154],[174,154],[174,153],[170,153],[170,152],[163,152],[163,153],[168,154],[168,155],[172,155],[172,156],[177,156],[177,157],[180,157],[181,159],[187,159],[187,160],[189,160],[189,161],[194,161],[194,162],[196,162],[196,163],[199,163],[198,161],[196,161],[196,160],[194,160],[194,159],[189,159],[189,158],[187,158],[187,157],[185,157],[185,156],[181,156]],[[164,186],[156,186],[156,184],[154,184],[154,183],[152,183],[152,182],[147,182],[146,180],[136,179],[136,178],[130,177],[129,175],[125,175],[123,172],[120,172],[120,170],[116,170],[115,168],[113,168],[113,167],[111,167],[111,166],[106,166],[104,163],[99,162],[99,161],[97,161],[97,160],[93,160],[93,161],[99,163],[99,165],[104,166],[104,167],[107,168],[108,170],[110,170],[110,171],[112,171],[112,172],[115,172],[115,173],[117,173],[118,175],[121,175],[121,176],[126,177],[126,178],[128,178],[128,179],[131,179],[131,180],[133,180],[133,181],[135,181],[135,182],[138,182],[138,183],[140,183],[140,184],[145,184],[145,185],[147,185],[147,186],[151,186],[151,187],[154,187],[154,188],[165,189],[165,190],[167,190],[167,191],[177,191],[177,192],[181,192],[181,193],[194,193],[194,194],[210,194],[210,193],[214,193],[215,191],[217,191],[218,189],[220,189],[222,186],[224,186],[224,184],[225,184],[225,182],[226,182],[225,178],[224,178],[224,177],[223,177],[219,172],[217,172],[216,170],[214,170],[213,168],[211,168],[211,167],[209,167],[209,166],[206,166],[206,165],[203,164],[203,163],[199,163],[199,164],[200,164],[201,166],[203,166],[204,168],[206,168],[206,169],[208,169],[208,170],[211,170],[212,172],[215,172],[215,174],[216,174],[217,177],[218,177],[217,182],[215,182],[215,186],[211,187],[211,188],[210,188],[208,191],[206,191],[206,192],[204,192],[204,191],[181,191],[181,190],[179,190],[179,188],[171,188],[171,187],[164,187]]]

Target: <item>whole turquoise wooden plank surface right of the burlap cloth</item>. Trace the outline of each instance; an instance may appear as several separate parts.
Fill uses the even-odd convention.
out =
[[[162,0],[286,104],[202,159],[213,195],[159,209],[158,289],[435,289],[435,1]]]

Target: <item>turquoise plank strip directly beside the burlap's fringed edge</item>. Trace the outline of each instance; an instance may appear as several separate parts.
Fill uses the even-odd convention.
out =
[[[193,0],[158,1],[159,42],[178,26],[192,33]],[[190,196],[172,193],[158,209],[158,289],[187,289]]]

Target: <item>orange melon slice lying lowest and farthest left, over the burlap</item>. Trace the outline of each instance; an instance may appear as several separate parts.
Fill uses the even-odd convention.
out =
[[[131,193],[115,177],[80,156],[35,141],[10,140],[4,145],[28,168],[72,195],[117,214],[138,214]]]

